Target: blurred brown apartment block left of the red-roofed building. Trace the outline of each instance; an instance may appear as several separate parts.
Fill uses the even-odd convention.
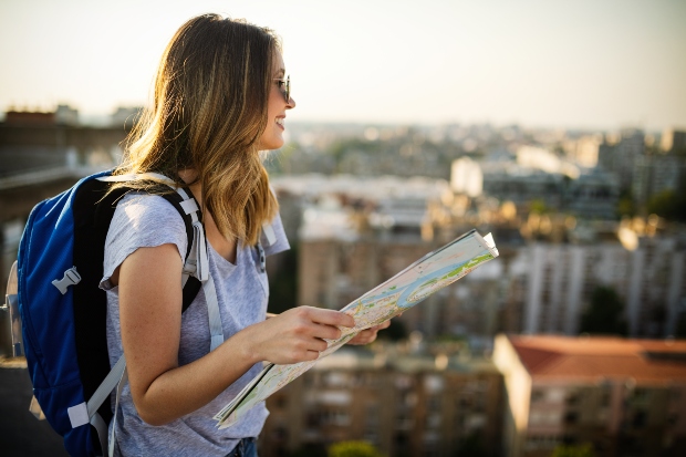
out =
[[[267,399],[260,455],[324,456],[343,440],[388,457],[497,455],[501,394],[486,360],[341,350]]]

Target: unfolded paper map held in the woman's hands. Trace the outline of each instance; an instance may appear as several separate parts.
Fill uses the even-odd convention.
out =
[[[434,292],[457,281],[488,260],[498,257],[492,237],[481,237],[476,230],[462,235],[444,247],[429,252],[386,282],[372,289],[341,311],[355,319],[355,326],[343,328],[341,337],[328,340],[329,347],[319,359],[292,365],[264,366],[228,405],[215,415],[219,428],[235,424],[252,406],[310,370],[364,329],[406,311]]]

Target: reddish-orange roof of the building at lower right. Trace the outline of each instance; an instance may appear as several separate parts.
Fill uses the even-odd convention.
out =
[[[534,378],[634,378],[686,383],[686,340],[624,340],[599,336],[508,336]]]

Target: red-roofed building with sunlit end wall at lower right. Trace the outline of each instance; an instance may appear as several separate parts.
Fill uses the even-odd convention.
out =
[[[503,455],[583,443],[597,456],[686,455],[685,361],[686,341],[498,335]]]

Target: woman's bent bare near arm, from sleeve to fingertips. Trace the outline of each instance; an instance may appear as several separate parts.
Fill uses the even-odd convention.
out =
[[[250,325],[199,360],[178,366],[181,260],[174,245],[141,248],[118,271],[119,321],[128,382],[138,415],[162,425],[219,395],[253,364],[314,360],[351,316],[295,308]]]

